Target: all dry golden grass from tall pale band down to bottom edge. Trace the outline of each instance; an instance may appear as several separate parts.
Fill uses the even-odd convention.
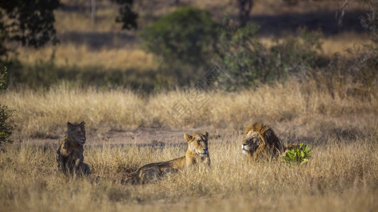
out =
[[[255,90],[211,93],[199,109],[181,90],[140,96],[67,83],[44,93],[7,91],[0,102],[16,109],[11,120],[18,129],[13,133],[16,143],[0,153],[0,208],[377,211],[377,92],[371,88],[370,97],[361,100],[345,94],[358,87],[353,83],[332,92],[321,85],[289,80]],[[182,114],[178,123],[168,114],[176,102],[193,112]],[[314,150],[309,164],[247,163],[240,150],[241,132],[258,119],[273,126],[285,143],[309,143]],[[92,174],[67,179],[57,173],[55,151],[67,121],[81,120],[87,123],[84,161]],[[130,131],[164,124],[171,129],[157,130],[172,134],[165,139],[149,137],[147,129]],[[210,171],[184,170],[155,184],[120,184],[144,164],[184,155],[183,133],[205,130],[210,132]],[[53,139],[43,139],[49,135]]]

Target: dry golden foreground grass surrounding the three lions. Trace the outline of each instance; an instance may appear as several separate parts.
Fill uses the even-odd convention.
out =
[[[23,143],[0,154],[0,206],[5,211],[376,211],[377,135],[316,140],[310,141],[310,163],[298,167],[247,163],[241,135],[223,134],[210,139],[210,171],[184,170],[146,185],[120,184],[120,175],[183,155],[183,139],[182,146],[141,148],[89,141],[84,155],[93,173],[71,180],[57,173],[56,146]]]

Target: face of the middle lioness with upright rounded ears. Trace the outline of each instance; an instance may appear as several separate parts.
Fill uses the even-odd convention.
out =
[[[207,148],[207,137],[209,134],[207,131],[205,133],[195,133],[191,136],[185,134],[185,140],[188,142],[188,148],[191,152],[200,155],[200,157],[209,157],[209,149]]]

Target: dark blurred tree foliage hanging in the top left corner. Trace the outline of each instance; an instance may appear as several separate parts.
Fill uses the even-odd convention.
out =
[[[0,1],[0,57],[6,56],[6,42],[40,47],[58,42],[54,11],[59,0]]]

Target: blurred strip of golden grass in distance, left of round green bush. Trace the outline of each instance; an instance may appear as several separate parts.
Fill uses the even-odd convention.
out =
[[[33,66],[36,61],[47,61],[54,55],[57,67],[75,66],[77,68],[101,67],[104,70],[154,70],[153,57],[140,49],[93,50],[88,45],[67,44],[57,47],[44,47],[38,50],[23,49],[18,54],[19,60],[26,66]]]

